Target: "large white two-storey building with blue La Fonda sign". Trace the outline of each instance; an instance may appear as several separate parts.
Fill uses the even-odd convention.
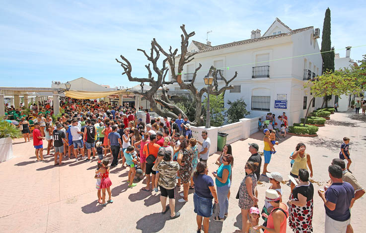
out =
[[[290,124],[299,122],[312,98],[309,91],[303,89],[304,80],[322,72],[317,38],[318,28],[292,30],[276,18],[263,36],[257,29],[251,32],[251,39],[218,46],[192,41],[188,51],[197,54],[184,66],[183,80],[190,81],[199,64],[202,68],[195,80],[198,88],[204,85],[203,77],[211,66],[222,70],[227,79],[238,72],[237,78],[230,83],[235,88],[225,93],[225,105],[227,100],[243,98],[250,111],[247,117],[263,116],[268,112],[278,116],[286,112]],[[224,82],[218,81],[220,88]],[[169,88],[178,90],[179,85],[174,83]],[[321,99],[317,98],[312,109],[320,105]]]

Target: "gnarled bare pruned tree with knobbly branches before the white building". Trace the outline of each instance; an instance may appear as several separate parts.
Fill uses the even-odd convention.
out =
[[[200,64],[196,68],[191,82],[186,82],[186,83],[183,82],[182,75],[181,75],[181,73],[183,71],[183,66],[186,65],[187,63],[190,63],[194,59],[193,56],[196,54],[196,53],[187,53],[189,38],[194,36],[195,32],[191,32],[188,34],[185,30],[184,24],[182,26],[180,26],[180,28],[182,29],[182,32],[183,32],[183,34],[181,34],[181,51],[180,51],[181,53],[180,53],[180,55],[177,55],[178,49],[175,49],[174,51],[172,51],[171,46],[169,48],[169,52],[166,52],[157,43],[155,38],[153,38],[153,40],[151,41],[151,49],[150,49],[149,55],[146,54],[145,50],[138,49],[138,51],[141,51],[144,53],[147,60],[150,62],[150,64],[152,64],[152,69],[155,72],[155,74],[157,75],[157,80],[155,80],[154,77],[152,76],[150,64],[145,66],[147,69],[147,72],[148,72],[148,78],[136,78],[136,77],[132,77],[131,63],[124,56],[122,56],[122,55],[120,56],[122,61],[119,61],[118,59],[116,59],[116,61],[119,64],[121,64],[121,67],[124,69],[124,72],[122,73],[122,75],[127,75],[128,79],[130,81],[136,81],[136,82],[140,82],[140,83],[147,82],[149,84],[149,86],[151,86],[151,88],[149,90],[147,90],[146,92],[141,93],[141,92],[135,91],[135,93],[143,95],[150,102],[150,107],[159,115],[167,115],[169,117],[174,117],[174,118],[176,118],[178,114],[182,114],[183,116],[186,115],[179,107],[177,107],[172,101],[169,100],[165,85],[177,82],[181,89],[190,90],[193,97],[196,100],[195,122],[193,123],[193,125],[200,126],[200,125],[203,125],[203,120],[201,118],[201,115],[202,115],[202,96],[204,95],[204,93],[209,92],[210,94],[213,94],[213,95],[219,95],[220,93],[224,92],[225,90],[234,88],[232,85],[229,85],[229,83],[234,78],[236,78],[237,72],[235,72],[235,75],[233,78],[227,80],[226,78],[224,78],[224,76],[222,75],[220,70],[210,69],[209,73],[214,77],[214,85],[212,85],[209,89],[207,87],[203,87],[200,90],[198,90],[197,87],[194,85],[194,82],[197,77],[197,72],[202,67],[202,65]],[[161,69],[159,69],[157,66],[157,61],[160,57],[159,52],[161,52],[166,57],[162,62]],[[178,58],[179,58],[178,70],[177,70],[178,72],[176,74],[175,73],[175,62],[176,62],[176,59],[178,59]],[[171,71],[171,75],[172,75],[171,81],[165,80],[166,74],[168,72],[168,68],[166,67],[166,62],[168,62],[169,67],[170,67],[170,71]],[[220,88],[219,88],[219,84],[217,81],[218,73],[220,73],[220,78],[222,78],[222,80],[224,80],[224,82],[225,82],[225,85]],[[160,87],[161,87],[161,91],[162,91],[161,98],[156,96],[156,92]],[[158,103],[161,106],[165,107],[166,109],[170,110],[170,112],[160,110],[157,107],[156,103]]]

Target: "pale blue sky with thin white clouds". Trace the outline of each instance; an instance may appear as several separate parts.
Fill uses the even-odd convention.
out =
[[[281,3],[279,3],[281,2]],[[366,44],[366,1],[1,1],[0,86],[50,87],[51,81],[84,77],[98,84],[133,86],[115,58],[123,54],[135,77],[146,77],[145,56],[156,38],[180,48],[180,25],[194,40],[212,45],[264,33],[276,17],[290,28],[322,31],[331,9],[331,40],[336,49]],[[321,39],[318,39],[319,45]],[[339,51],[341,57],[345,51]],[[351,50],[360,60],[366,47]],[[162,56],[160,58],[162,62]],[[161,64],[161,63],[160,63]]]

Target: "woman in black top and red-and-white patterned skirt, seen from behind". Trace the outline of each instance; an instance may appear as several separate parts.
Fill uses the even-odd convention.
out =
[[[309,172],[305,169],[298,170],[298,185],[293,188],[289,204],[289,225],[293,232],[312,232],[313,196],[314,187],[309,181]]]

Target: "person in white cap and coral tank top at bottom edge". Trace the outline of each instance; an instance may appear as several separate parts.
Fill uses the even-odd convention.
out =
[[[261,225],[254,227],[254,229],[264,229],[264,233],[286,232],[287,217],[289,216],[287,205],[280,202],[280,195],[273,189],[266,190],[265,201],[269,202],[274,207],[270,215],[263,214],[263,216],[267,218],[267,227]]]

